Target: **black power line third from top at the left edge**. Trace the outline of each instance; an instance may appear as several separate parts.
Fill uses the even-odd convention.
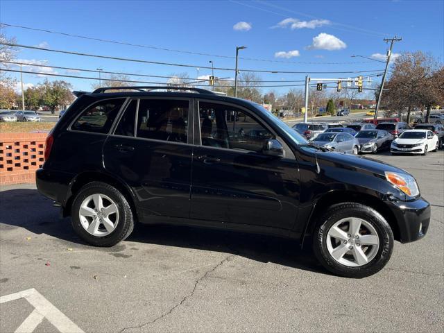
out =
[[[12,65],[22,65],[29,67],[45,67],[45,68],[53,68],[53,69],[65,69],[67,71],[85,71],[89,73],[103,73],[103,74],[117,74],[117,75],[127,75],[127,76],[139,76],[139,77],[147,77],[147,78],[178,78],[178,76],[161,76],[161,75],[148,75],[148,74],[135,74],[135,73],[124,73],[121,71],[104,71],[103,69],[84,69],[84,68],[75,68],[75,67],[60,67],[60,66],[50,66],[50,65],[40,65],[40,64],[29,64],[27,62],[17,62],[17,61],[6,61],[1,60],[0,63],[4,64],[12,64]],[[367,77],[377,76],[379,74],[369,74]],[[202,81],[208,81],[207,78],[186,78],[189,80],[195,80],[196,83]],[[345,79],[345,78],[343,78]],[[234,82],[234,80],[229,78],[217,78],[219,82]],[[334,81],[334,80],[332,80]],[[296,82],[305,82],[305,80],[250,80],[252,83],[296,83]]]

